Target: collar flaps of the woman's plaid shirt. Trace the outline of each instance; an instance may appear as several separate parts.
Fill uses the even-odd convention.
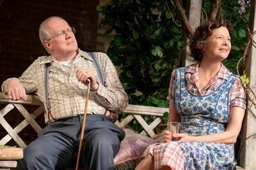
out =
[[[186,73],[198,73],[198,66],[200,65],[200,62],[195,63],[194,65],[190,65],[186,68]],[[220,70],[217,74],[218,78],[220,79],[228,79],[228,76],[230,75],[230,72],[228,69],[221,63]]]

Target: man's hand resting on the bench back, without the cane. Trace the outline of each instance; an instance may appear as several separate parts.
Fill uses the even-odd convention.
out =
[[[19,79],[11,79],[8,82],[7,93],[11,100],[27,100],[25,88]]]

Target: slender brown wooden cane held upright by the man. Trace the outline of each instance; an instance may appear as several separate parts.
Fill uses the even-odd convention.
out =
[[[79,143],[79,148],[78,148],[78,153],[77,153],[76,170],[78,170],[78,167],[79,167],[79,159],[80,159],[80,155],[81,155],[81,149],[83,146],[84,128],[85,128],[87,107],[88,107],[88,101],[89,101],[89,92],[90,92],[90,86],[91,86],[90,79],[87,79],[87,81],[88,81],[88,85],[87,85],[87,91],[86,91],[86,96],[85,96],[86,100],[85,100],[85,105],[84,105],[84,118],[83,118],[83,125],[81,128],[81,135],[80,135],[80,143]]]

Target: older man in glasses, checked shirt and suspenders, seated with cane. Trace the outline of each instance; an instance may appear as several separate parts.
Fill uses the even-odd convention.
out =
[[[108,56],[96,52],[104,75],[104,84],[100,84],[95,61],[77,48],[74,33],[75,29],[60,17],[44,20],[39,35],[51,55],[36,59],[19,79],[3,82],[2,90],[10,99],[26,100],[26,93],[35,93],[45,105],[48,125],[24,150],[21,162],[24,169],[74,166],[81,137],[87,79],[91,81],[91,91],[80,162],[86,169],[115,169],[113,157],[125,133],[113,121],[127,106],[127,95]],[[47,63],[49,77],[45,79]],[[45,87],[49,87],[48,93],[45,93]]]

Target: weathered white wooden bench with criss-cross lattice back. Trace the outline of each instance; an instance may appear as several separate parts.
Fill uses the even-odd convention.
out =
[[[3,109],[0,112],[0,124],[8,133],[0,140],[0,145],[7,144],[11,139],[15,141],[19,145],[20,148],[25,148],[26,144],[19,137],[19,132],[24,129],[27,125],[31,125],[38,133],[42,128],[35,121],[35,118],[44,112],[44,106],[42,102],[40,102],[35,95],[28,95],[28,99],[26,102],[23,101],[12,101],[8,99],[8,95],[0,92],[0,104],[3,105]],[[24,105],[36,105],[38,106],[35,111],[29,113]],[[12,128],[9,123],[4,119],[4,116],[8,114],[8,112],[12,111],[12,109],[17,108],[17,110],[24,116],[24,120],[17,125],[17,127]],[[137,120],[138,123],[143,127],[143,131],[140,134],[149,135],[150,137],[154,137],[155,132],[154,128],[161,123],[163,119],[164,112],[168,112],[168,108],[163,107],[150,107],[143,105],[128,105],[124,111],[128,114],[122,121],[116,121],[116,125],[118,127],[124,127],[132,120]],[[153,116],[154,121],[148,125],[148,123],[143,119],[142,116]],[[16,165],[17,160],[8,160],[8,164],[6,164],[6,160],[1,160],[0,155],[0,170],[2,169],[10,169],[11,166]],[[9,165],[9,166],[8,166]],[[241,169],[241,167],[237,167],[237,169]]]

